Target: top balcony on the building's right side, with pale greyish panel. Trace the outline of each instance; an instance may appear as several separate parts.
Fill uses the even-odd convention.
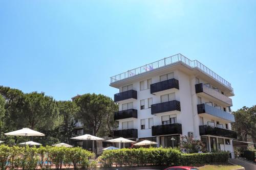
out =
[[[223,95],[219,91],[212,89],[203,83],[196,84],[195,87],[196,87],[196,93],[201,94],[202,96],[205,96],[206,98],[210,98],[214,101],[221,102],[222,105],[225,107],[232,106],[232,99]]]

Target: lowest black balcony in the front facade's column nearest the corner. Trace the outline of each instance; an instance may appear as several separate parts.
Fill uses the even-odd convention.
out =
[[[182,134],[181,124],[166,124],[152,127],[152,136]]]

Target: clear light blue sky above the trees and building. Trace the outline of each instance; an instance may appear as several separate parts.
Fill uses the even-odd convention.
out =
[[[0,1],[0,85],[113,98],[110,77],[177,53],[255,105],[256,1]]]

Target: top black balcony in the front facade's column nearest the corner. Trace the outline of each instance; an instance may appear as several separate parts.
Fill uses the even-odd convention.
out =
[[[158,83],[154,83],[150,85],[150,92],[155,93],[163,90],[168,90],[172,88],[179,89],[179,81],[176,79],[169,79],[165,81],[161,81]]]

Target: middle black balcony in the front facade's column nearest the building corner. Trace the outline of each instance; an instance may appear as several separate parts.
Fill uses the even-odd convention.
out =
[[[176,100],[151,105],[151,114],[175,110],[180,111],[180,102]]]

